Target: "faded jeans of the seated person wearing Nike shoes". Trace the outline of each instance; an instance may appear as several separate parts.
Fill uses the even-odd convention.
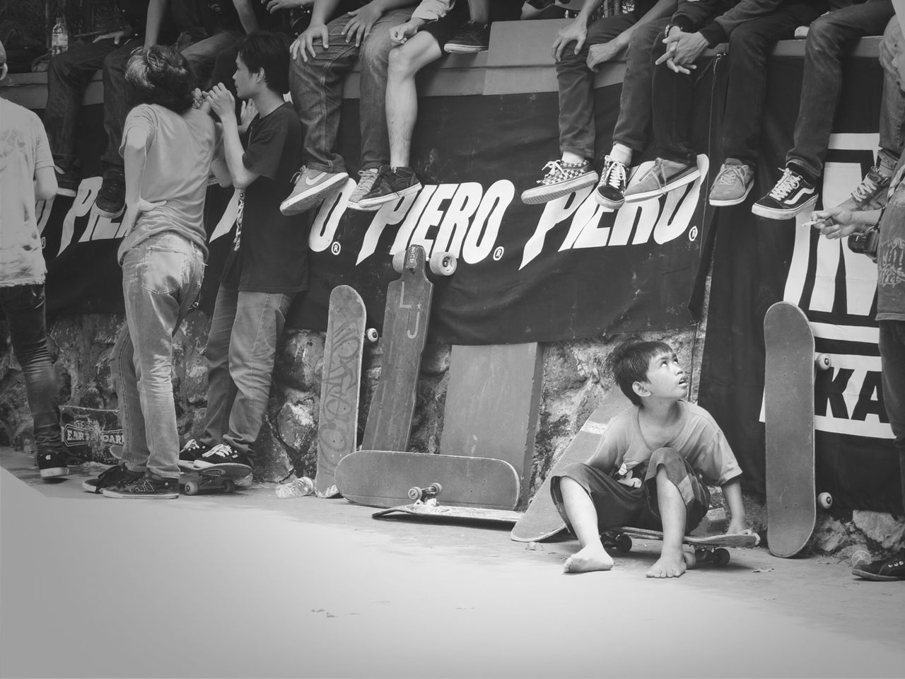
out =
[[[377,19],[361,47],[347,43],[342,29],[350,21],[343,14],[328,24],[329,49],[317,45],[317,56],[308,55],[291,63],[290,90],[292,103],[305,129],[305,164],[320,172],[345,172],[346,162],[336,152],[339,111],[342,106],[344,76],[352,70],[359,56],[361,81],[358,86],[359,124],[361,129],[361,161],[358,168],[375,169],[390,158],[386,136],[386,66],[394,43],[390,29],[405,24],[412,8],[394,9]]]

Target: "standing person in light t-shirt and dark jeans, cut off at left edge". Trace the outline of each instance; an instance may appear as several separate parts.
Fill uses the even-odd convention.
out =
[[[0,43],[0,81],[6,77]],[[35,198],[56,195],[50,144],[41,119],[0,98],[0,311],[25,378],[41,478],[69,473],[60,431],[59,386],[47,350],[44,279],[47,265],[34,215]]]

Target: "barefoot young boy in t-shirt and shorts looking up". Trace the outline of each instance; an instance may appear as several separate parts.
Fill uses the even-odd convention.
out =
[[[705,483],[723,488],[732,514],[728,532],[749,532],[741,469],[710,414],[685,400],[689,378],[668,344],[624,344],[614,352],[613,374],[634,406],[613,418],[586,464],[568,465],[550,486],[581,545],[565,570],[612,569],[600,533],[635,526],[663,531],[660,559],[647,577],[678,578],[686,568],[682,536],[710,508]]]

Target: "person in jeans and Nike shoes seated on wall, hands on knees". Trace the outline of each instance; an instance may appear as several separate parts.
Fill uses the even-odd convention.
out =
[[[292,43],[292,104],[304,129],[304,167],[283,215],[298,215],[335,195],[346,183],[346,161],[336,152],[343,77],[361,62],[359,125],[361,160],[350,206],[374,186],[389,159],[386,139],[386,67],[394,43],[390,31],[412,16],[414,0],[346,2],[315,0],[311,23]],[[337,18],[330,16],[343,10]],[[329,22],[329,23],[328,23]]]

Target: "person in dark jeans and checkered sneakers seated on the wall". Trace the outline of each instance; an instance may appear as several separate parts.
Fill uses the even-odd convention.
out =
[[[650,118],[650,80],[647,62],[653,39],[662,37],[662,27],[675,11],[677,0],[638,0],[632,12],[592,20],[595,10],[603,0],[585,0],[575,20],[561,29],[553,41],[553,58],[557,64],[559,88],[559,151],[558,160],[544,166],[544,176],[538,186],[521,194],[523,203],[547,203],[560,196],[591,186],[597,181],[592,162],[595,153],[594,76],[600,65],[620,58],[632,47],[629,67],[623,82],[623,98],[619,121],[616,123],[618,139],[625,137],[621,130],[626,125],[641,126],[633,137],[644,136],[645,120]],[[635,32],[645,24],[656,27],[648,40],[633,40]],[[646,91],[645,91],[646,90]],[[633,97],[633,92],[640,100]],[[641,110],[645,112],[642,114]],[[624,119],[622,111],[625,112]],[[618,148],[617,148],[618,146]],[[634,144],[636,150],[642,144]],[[624,190],[625,167],[631,163],[632,150],[624,143],[614,145],[614,150],[604,159],[604,173],[598,201],[607,194],[606,187],[615,183]],[[621,205],[621,203],[620,203]],[[616,206],[617,207],[617,206]]]

